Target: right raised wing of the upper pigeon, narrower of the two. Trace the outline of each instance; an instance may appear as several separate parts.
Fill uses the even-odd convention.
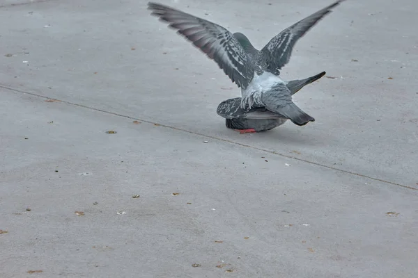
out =
[[[284,29],[284,31],[281,31],[272,38],[270,42],[261,49],[268,63],[269,70],[280,70],[284,67],[291,59],[292,50],[297,40],[302,38],[312,26],[327,15],[327,13],[330,13],[331,9],[338,6],[342,1],[344,0],[336,1],[313,15],[309,15],[309,17]]]

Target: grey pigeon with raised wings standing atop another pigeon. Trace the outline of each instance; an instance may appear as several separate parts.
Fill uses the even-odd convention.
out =
[[[284,29],[261,50],[256,49],[244,34],[231,33],[206,19],[160,3],[148,2],[148,9],[152,10],[151,15],[169,23],[178,34],[215,60],[241,89],[241,108],[265,106],[268,111],[304,126],[315,119],[293,103],[291,91],[280,77],[280,70],[289,62],[297,40],[342,1],[335,1]]]

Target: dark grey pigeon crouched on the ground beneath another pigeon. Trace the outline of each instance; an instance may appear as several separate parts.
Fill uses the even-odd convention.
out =
[[[305,85],[317,81],[324,75],[325,72],[321,72],[307,79],[289,81],[286,87],[291,91],[291,95],[294,95]],[[217,114],[225,118],[227,128],[239,131],[241,134],[268,131],[281,126],[288,120],[277,113],[268,111],[265,106],[254,105],[249,110],[243,109],[240,97],[222,101],[217,107]]]

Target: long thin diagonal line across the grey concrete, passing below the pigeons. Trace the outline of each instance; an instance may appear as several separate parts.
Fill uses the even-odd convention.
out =
[[[48,1],[48,0],[46,0],[46,1]],[[3,86],[3,85],[0,85],[0,88],[6,89],[6,90],[10,90],[10,91],[13,91],[13,92],[21,92],[21,93],[26,94],[26,95],[32,95],[33,97],[40,97],[42,99],[54,99],[54,98],[51,98],[51,97],[45,97],[43,95],[38,95],[38,94],[33,93],[33,92],[25,92],[25,91],[22,91],[22,90],[8,88],[8,87]],[[131,116],[127,116],[127,115],[123,115],[123,114],[119,114],[119,113],[105,111],[105,110],[102,110],[102,109],[99,109],[99,108],[94,108],[94,107],[91,107],[91,106],[85,106],[83,104],[76,104],[76,103],[70,102],[70,101],[64,101],[64,100],[61,100],[61,99],[56,99],[56,100],[57,101],[60,101],[60,102],[62,102],[64,104],[69,104],[71,106],[78,106],[78,107],[82,107],[82,108],[87,108],[87,109],[90,109],[90,110],[93,110],[93,111],[107,113],[107,114],[115,115],[115,116],[118,116],[118,117],[125,117],[125,118],[130,119],[130,120],[138,120],[138,121],[141,121],[141,122],[146,122],[148,124],[158,124],[159,126],[163,126],[163,127],[168,128],[168,129],[174,129],[176,131],[183,131],[183,132],[191,133],[191,134],[194,134],[194,135],[203,136],[203,137],[206,137],[206,138],[211,138],[211,139],[219,140],[219,141],[222,141],[222,142],[228,142],[230,144],[238,145],[238,146],[241,146],[241,147],[247,147],[249,149],[256,149],[256,150],[261,151],[261,152],[267,152],[269,154],[275,154],[277,156],[291,158],[291,159],[294,159],[295,161],[301,161],[301,162],[304,162],[304,163],[309,163],[311,165],[325,167],[327,169],[334,170],[334,171],[338,171],[338,172],[343,172],[343,173],[346,173],[346,174],[353,174],[353,175],[355,175],[357,177],[364,177],[366,179],[371,179],[373,181],[380,181],[382,183],[389,183],[389,184],[392,184],[394,186],[400,186],[402,188],[408,188],[408,189],[411,189],[411,190],[418,190],[418,188],[413,188],[412,186],[405,186],[405,185],[403,185],[401,183],[394,183],[392,181],[385,181],[384,179],[378,179],[378,178],[374,178],[374,177],[369,177],[369,176],[366,176],[365,174],[359,174],[359,173],[356,173],[356,172],[350,172],[348,170],[343,170],[343,169],[339,169],[339,168],[336,168],[336,167],[328,166],[328,165],[325,165],[325,164],[320,164],[320,163],[316,163],[316,162],[313,162],[313,161],[308,161],[306,159],[297,158],[295,156],[289,156],[287,154],[280,154],[278,152],[273,152],[273,151],[270,151],[268,149],[262,149],[260,147],[253,147],[253,146],[250,146],[250,145],[245,145],[245,144],[242,144],[240,142],[234,142],[234,141],[231,141],[231,140],[228,140],[228,139],[218,138],[218,137],[215,137],[215,136],[209,136],[209,135],[206,135],[206,134],[203,134],[203,133],[194,132],[194,131],[188,131],[187,129],[180,129],[180,128],[175,127],[175,126],[168,126],[167,124],[160,124],[160,123],[157,123],[157,122],[150,122],[148,120],[142,120],[142,119],[137,118],[137,117],[131,117]]]

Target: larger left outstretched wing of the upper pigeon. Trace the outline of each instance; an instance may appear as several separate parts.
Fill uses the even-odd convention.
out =
[[[241,44],[226,28],[158,3],[148,3],[148,9],[215,60],[238,87],[247,88],[254,69]]]

